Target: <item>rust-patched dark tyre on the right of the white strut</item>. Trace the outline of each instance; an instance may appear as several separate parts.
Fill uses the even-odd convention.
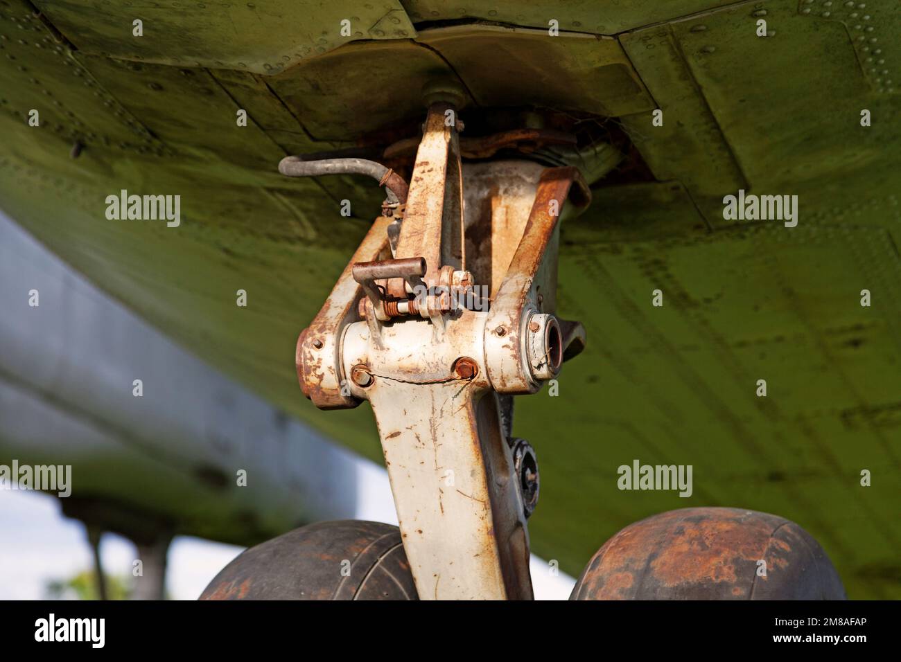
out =
[[[795,522],[686,508],[630,524],[588,562],[570,600],[844,600],[819,543]]]

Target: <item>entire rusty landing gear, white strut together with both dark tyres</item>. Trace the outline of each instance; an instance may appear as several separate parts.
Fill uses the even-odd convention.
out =
[[[511,396],[537,392],[585,346],[582,325],[556,315],[557,249],[561,214],[587,206],[590,191],[572,167],[462,163],[459,97],[430,95],[408,187],[360,159],[280,167],[363,172],[389,189],[301,332],[296,367],[321,409],[369,400],[399,531],[305,527],[242,554],[205,598],[532,599],[526,520],[539,473],[532,446],[512,438]],[[769,576],[755,575],[760,559]],[[668,512],[610,540],[572,598],[788,597],[816,585],[834,596],[830,569],[813,539],[772,515]]]

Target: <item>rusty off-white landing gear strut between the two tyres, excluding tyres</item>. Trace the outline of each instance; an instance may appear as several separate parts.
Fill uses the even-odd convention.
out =
[[[455,115],[430,105],[394,254],[380,217],[301,333],[297,374],[323,409],[369,400],[420,598],[531,599],[539,472],[501,394],[584,347],[555,292],[560,213],[589,192],[576,168],[464,166]]]

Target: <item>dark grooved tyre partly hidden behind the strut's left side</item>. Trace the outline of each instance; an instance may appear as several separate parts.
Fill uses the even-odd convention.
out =
[[[201,600],[418,600],[400,530],[323,521],[256,547],[214,577]]]

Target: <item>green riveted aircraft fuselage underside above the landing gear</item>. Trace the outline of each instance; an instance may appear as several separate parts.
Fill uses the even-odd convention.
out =
[[[382,193],[281,177],[278,160],[421,122],[437,76],[465,86],[464,121],[523,105],[614,118],[650,177],[601,179],[561,230],[559,313],[588,343],[558,395],[517,398],[542,475],[532,550],[578,575],[630,522],[746,507],[810,531],[851,598],[901,597],[897,3],[460,5],[0,0],[0,207],[171,338],[380,461],[369,406],[316,410],[293,356]],[[108,220],[123,189],[181,195],[180,224]],[[796,227],[724,219],[739,190],[797,195]],[[693,494],[621,491],[634,459],[691,465]],[[154,476],[91,480],[184,505]],[[203,532],[250,544],[277,529]]]

